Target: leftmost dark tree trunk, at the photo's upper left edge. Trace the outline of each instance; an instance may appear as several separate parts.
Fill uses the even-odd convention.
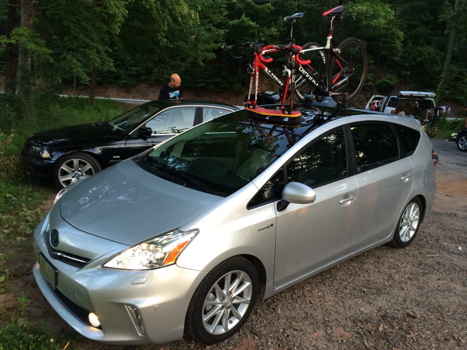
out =
[[[8,19],[6,22],[6,36],[11,37],[13,29],[19,25],[18,17],[19,0],[8,1]],[[6,45],[5,54],[5,91],[9,94],[16,94],[16,70],[18,67],[18,44],[9,43]]]

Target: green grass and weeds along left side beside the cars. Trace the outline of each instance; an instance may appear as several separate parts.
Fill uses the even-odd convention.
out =
[[[47,325],[28,318],[29,299],[15,284],[31,274],[34,259],[33,230],[46,214],[43,202],[55,192],[49,183],[31,181],[21,163],[20,150],[29,134],[55,127],[109,120],[123,111],[121,104],[82,98],[36,97],[34,113],[19,119],[18,101],[0,95],[0,294],[11,294],[0,305],[0,350],[65,349],[63,334],[52,334]],[[16,298],[14,295],[16,294]],[[56,338],[55,338],[56,337]]]

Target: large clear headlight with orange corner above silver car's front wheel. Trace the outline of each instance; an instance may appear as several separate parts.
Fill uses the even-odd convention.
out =
[[[182,250],[198,234],[198,229],[178,229],[128,248],[104,264],[104,267],[148,270],[175,263]]]

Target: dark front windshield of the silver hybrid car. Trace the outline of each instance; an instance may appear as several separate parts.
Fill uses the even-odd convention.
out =
[[[156,147],[138,163],[183,186],[227,196],[261,174],[300,136],[293,129],[246,118],[219,117]]]

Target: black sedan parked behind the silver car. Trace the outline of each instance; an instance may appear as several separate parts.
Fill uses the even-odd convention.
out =
[[[238,108],[205,101],[157,100],[108,122],[67,126],[30,135],[21,156],[28,175],[58,188]]]

